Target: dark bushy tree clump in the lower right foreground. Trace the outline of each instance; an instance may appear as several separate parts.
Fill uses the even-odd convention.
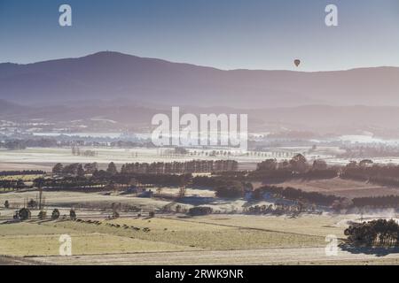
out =
[[[345,230],[348,242],[367,247],[397,247],[399,225],[395,220],[378,219],[349,226]]]

